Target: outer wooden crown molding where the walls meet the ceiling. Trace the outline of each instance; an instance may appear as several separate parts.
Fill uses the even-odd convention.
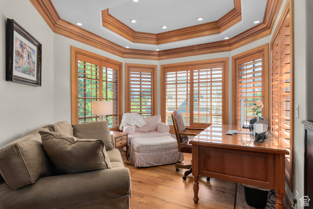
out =
[[[235,0],[235,2],[237,2],[236,5],[240,5],[238,4],[239,1],[240,0]],[[249,44],[255,40],[261,39],[271,34],[282,1],[283,0],[267,0],[263,22],[228,40],[180,47],[175,49],[152,51],[126,49],[118,44],[115,44],[112,41],[109,41],[97,34],[91,33],[88,30],[85,30],[60,18],[51,0],[30,0],[30,2],[37,9],[39,14],[44,18],[44,20],[54,33],[63,35],[70,39],[74,39],[81,43],[93,46],[95,48],[104,50],[123,58],[144,60],[166,60],[186,56],[230,51],[233,49],[237,49],[245,44]],[[228,13],[228,15],[231,16],[233,13],[230,13],[232,13],[232,11]],[[228,24],[221,21],[220,29],[227,29]],[[146,39],[148,40],[149,37],[147,37]]]

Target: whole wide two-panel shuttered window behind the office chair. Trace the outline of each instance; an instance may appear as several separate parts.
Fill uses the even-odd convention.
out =
[[[185,125],[207,128],[228,123],[228,58],[161,65],[161,113],[172,127],[171,113],[182,113]]]

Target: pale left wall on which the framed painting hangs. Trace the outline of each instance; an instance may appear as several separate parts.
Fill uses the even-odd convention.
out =
[[[14,19],[42,44],[42,87],[5,81],[7,18]],[[53,121],[53,37],[29,1],[0,1],[0,148]]]

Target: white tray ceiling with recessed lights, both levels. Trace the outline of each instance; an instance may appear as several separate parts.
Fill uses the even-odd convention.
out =
[[[101,11],[109,8],[111,15],[135,31],[161,33],[218,20],[234,8],[233,0],[140,0],[138,3],[131,0],[52,0],[52,3],[62,19],[82,23],[82,28],[123,47],[142,50],[166,50],[231,38],[253,27],[254,21],[262,22],[266,6],[266,0],[241,0],[242,20],[221,34],[152,45],[132,43],[102,27]],[[205,19],[197,21],[198,17]],[[136,19],[137,23],[130,23],[130,19]],[[168,28],[161,29],[162,25]]]

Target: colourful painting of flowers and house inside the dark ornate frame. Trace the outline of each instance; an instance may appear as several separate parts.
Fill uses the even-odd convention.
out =
[[[15,37],[14,70],[35,77],[35,50]]]

